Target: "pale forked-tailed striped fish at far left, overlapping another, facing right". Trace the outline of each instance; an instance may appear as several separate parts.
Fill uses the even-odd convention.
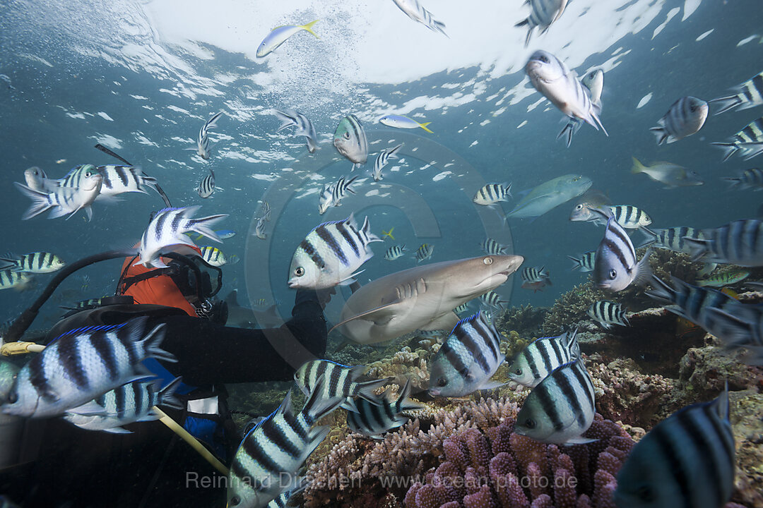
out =
[[[80,209],[84,209],[88,220],[91,220],[93,216],[91,205],[101,192],[103,176],[95,171],[95,168],[88,169],[82,172],[79,187],[56,187],[50,193],[44,190],[33,190],[31,187],[18,182],[14,182],[14,184],[18,190],[21,190],[21,193],[32,200],[32,205],[24,212],[24,216],[21,216],[23,220],[38,216],[47,209],[51,210],[48,219],[56,219],[67,214],[69,214],[67,217],[69,219]]]

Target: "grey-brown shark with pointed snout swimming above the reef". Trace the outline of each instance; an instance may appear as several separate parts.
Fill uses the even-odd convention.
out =
[[[480,256],[409,268],[372,280],[347,299],[334,328],[357,343],[414,330],[452,330],[453,309],[506,282],[521,256]]]

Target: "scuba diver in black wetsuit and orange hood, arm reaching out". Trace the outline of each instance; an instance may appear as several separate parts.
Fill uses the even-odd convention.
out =
[[[291,382],[299,366],[324,357],[323,309],[334,290],[299,289],[291,319],[281,327],[227,327],[227,303],[216,298],[222,270],[195,251],[163,254],[166,268],[125,258],[115,296],[69,312],[42,342],[137,316],[148,318],[147,329],[164,324],[161,347],[177,362],[143,364],[162,385],[182,376],[175,390],[182,410],[167,407],[166,413],[230,465],[242,433],[230,417],[225,384]],[[62,418],[26,419],[18,464],[5,469],[0,464],[0,494],[20,506],[224,506],[226,478],[172,430],[158,420],[129,430],[133,433],[104,433],[81,430]]]

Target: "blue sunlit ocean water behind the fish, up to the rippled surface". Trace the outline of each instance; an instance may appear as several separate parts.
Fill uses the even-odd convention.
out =
[[[201,216],[230,214],[220,228],[234,229],[238,235],[221,249],[243,262],[225,268],[221,295],[240,289],[250,299],[275,299],[283,313],[291,306],[286,280],[296,245],[315,225],[343,219],[349,212],[359,222],[369,216],[379,235],[381,229],[394,227],[395,243],[405,243],[409,254],[421,243],[434,244],[432,261],[478,255],[487,234],[510,243],[513,252],[526,258],[525,266],[545,266],[554,283],[533,293],[520,289],[519,277],[513,276],[497,290],[510,296],[512,305],[551,305],[560,292],[584,280],[584,275],[569,270],[566,256],[594,249],[602,228],[569,222],[572,203],[533,222],[509,219],[504,226],[494,221],[493,216],[500,217],[497,212],[472,203],[479,182],[510,181],[516,196],[553,177],[582,174],[613,203],[645,209],[655,227],[713,227],[755,216],[759,196],[726,190],[720,177],[752,168],[756,161],[735,156],[721,163],[722,152],[710,142],[736,133],[759,116],[759,108],[711,116],[700,133],[671,145],[657,146],[649,127],[678,97],[718,97],[760,72],[758,2],[706,0],[684,20],[684,10],[694,2],[613,2],[604,14],[595,3],[573,2],[562,18],[565,25],[560,20],[548,34],[534,34],[527,49],[522,46],[524,29],[512,27],[526,15],[518,1],[481,5],[482,21],[476,25],[470,21],[475,13],[464,14],[462,20],[446,18],[452,27],[450,39],[417,26],[394,5],[346,7],[349,23],[343,21],[338,2],[304,2],[294,9],[254,5],[250,7],[254,11],[268,11],[269,17],[263,18],[284,23],[322,20],[315,27],[320,40],[299,34],[266,59],[256,60],[253,51],[271,27],[262,26],[255,17],[243,23],[245,33],[237,32],[238,24],[226,28],[236,18],[234,2],[213,13],[186,9],[175,21],[176,30],[166,32],[166,11],[172,7],[162,8],[157,2],[115,2],[108,7],[91,2],[4,2],[0,73],[8,76],[8,82],[0,83],[5,148],[2,248],[14,253],[52,251],[70,261],[127,247],[140,238],[150,213],[162,206],[153,193],[128,194],[111,206],[96,203],[92,222],[82,212],[66,220],[43,216],[21,220],[29,203],[12,182],[23,181],[24,169],[37,165],[50,177],[63,177],[75,165],[118,163],[93,149],[97,142],[156,177],[174,206],[201,204]],[[457,13],[464,8],[459,5],[442,5],[440,15]],[[630,11],[638,14],[621,16]],[[162,14],[165,18],[159,19]],[[594,14],[599,18],[591,21]],[[613,21],[612,26],[607,20]],[[192,26],[182,30],[185,21]],[[214,30],[205,24],[221,36],[207,37]],[[362,38],[364,47],[391,44],[394,35],[372,30],[382,24],[400,27],[402,38],[416,34],[405,46],[410,54],[401,58],[404,63],[396,62],[394,55],[374,61],[365,53],[344,59],[352,52],[348,41]],[[475,26],[485,34],[507,34],[513,46],[501,37],[486,37],[489,46],[463,43],[476,50],[468,59],[453,52],[458,54],[449,61],[447,55],[459,46],[459,37],[484,36]],[[597,30],[608,35],[599,37],[605,42],[592,50],[586,41],[598,40]],[[224,36],[249,40],[250,52],[228,47],[227,41],[217,46],[216,40]],[[507,46],[497,47],[499,43]],[[584,125],[570,148],[555,141],[562,128],[561,113],[548,101],[540,101],[521,65],[504,62],[526,60],[536,49],[559,53],[562,59],[571,54],[571,66],[581,75],[596,67],[605,70],[601,118],[609,137]],[[422,66],[433,72],[416,75],[414,69],[400,69],[416,62],[418,52]],[[444,62],[441,68],[424,62],[427,55]],[[459,66],[459,61],[468,65]],[[353,81],[354,75],[378,77],[381,72],[366,72],[378,67],[388,69],[388,79]],[[396,73],[401,77],[395,78]],[[636,108],[647,94],[651,100]],[[288,129],[275,134],[278,120],[269,113],[274,107],[294,107],[311,118],[320,136],[316,155],[307,154],[303,139]],[[210,161],[202,161],[186,149],[195,146],[198,128],[218,110],[225,116],[211,136],[216,152]],[[381,114],[398,111],[432,122],[434,133],[377,123]],[[357,186],[357,196],[319,216],[321,185],[350,172],[349,161],[331,145],[336,124],[348,113],[361,119],[371,143],[369,162],[359,170],[366,180]],[[398,142],[404,142],[403,160],[393,161],[385,180],[374,184],[369,171],[375,155]],[[425,143],[419,151],[417,146]],[[705,184],[662,189],[645,175],[629,173],[632,155],[645,162],[684,165],[697,171]],[[195,187],[208,168],[214,169],[220,188],[210,199],[201,200]],[[250,236],[262,196],[279,203],[266,241]],[[517,201],[515,197],[504,203],[504,212]],[[422,221],[428,225],[417,230]],[[364,266],[361,282],[414,266],[410,256],[384,260],[390,245],[391,241],[372,245],[375,257]],[[81,278],[85,273],[90,279],[86,285]],[[112,261],[72,276],[36,325],[50,324],[59,313],[56,305],[113,292],[118,273],[119,265]],[[49,277],[38,277],[37,291]],[[3,320],[20,312],[37,291],[0,292]]]

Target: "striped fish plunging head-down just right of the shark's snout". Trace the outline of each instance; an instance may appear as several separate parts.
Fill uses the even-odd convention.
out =
[[[594,283],[599,289],[614,292],[626,289],[631,283],[642,285],[651,273],[650,254],[651,248],[647,249],[641,261],[636,263],[636,249],[633,248],[628,234],[614,216],[610,217],[607,220],[604,238],[596,251]]]

